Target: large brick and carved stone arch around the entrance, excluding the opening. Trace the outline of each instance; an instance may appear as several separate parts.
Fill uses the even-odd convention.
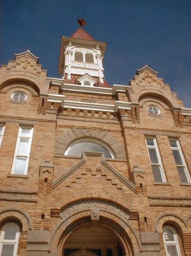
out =
[[[61,221],[53,230],[49,243],[50,251],[57,251],[61,255],[61,250],[68,236],[74,230],[91,225],[91,221],[96,221],[98,225],[110,229],[119,238],[125,251],[132,251],[132,254],[141,250],[140,238],[136,230],[130,225],[129,211],[103,200],[89,200],[89,202],[78,201],[68,204],[61,212]],[[127,255],[127,254],[126,254]]]

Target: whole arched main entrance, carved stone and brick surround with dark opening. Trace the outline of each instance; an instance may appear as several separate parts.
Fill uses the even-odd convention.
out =
[[[61,209],[60,217],[48,247],[56,255],[133,256],[140,253],[141,242],[130,224],[130,211],[115,202],[95,198],[71,202]]]

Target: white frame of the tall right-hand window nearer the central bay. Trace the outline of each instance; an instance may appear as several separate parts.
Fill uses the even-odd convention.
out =
[[[153,139],[154,146],[147,145],[147,139]],[[150,137],[150,136],[145,137],[145,143],[147,145],[147,152],[148,152],[149,160],[150,160],[150,163],[151,163],[151,169],[152,169],[152,166],[159,166],[160,174],[161,174],[161,177],[162,177],[162,182],[164,182],[164,183],[167,182],[166,175],[165,175],[164,168],[163,168],[163,164],[162,164],[162,159],[160,157],[160,152],[159,152],[159,149],[158,149],[158,144],[157,144],[157,141],[156,141],[156,137]],[[155,163],[153,164],[151,162],[151,157],[150,157],[150,154],[149,154],[149,149],[155,149],[156,150],[156,156],[158,158],[158,164],[155,164]],[[153,170],[152,170],[152,172],[153,172]],[[154,174],[153,174],[153,176],[154,176]],[[155,182],[161,182],[161,181],[155,181]]]

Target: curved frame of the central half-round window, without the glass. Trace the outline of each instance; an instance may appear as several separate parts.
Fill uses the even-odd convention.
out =
[[[106,143],[98,140],[98,139],[95,139],[93,137],[82,137],[80,139],[75,139],[74,141],[72,141],[68,147],[66,147],[66,151],[65,151],[65,156],[68,155],[68,151],[71,149],[72,146],[74,146],[75,144],[77,143],[80,143],[80,142],[93,142],[93,143],[96,143],[102,147],[104,147],[111,155],[111,158],[115,158],[115,154],[114,152],[111,150],[111,148],[106,145]]]

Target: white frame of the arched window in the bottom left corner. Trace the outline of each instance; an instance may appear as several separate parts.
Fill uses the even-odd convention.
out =
[[[14,227],[14,229],[16,229],[16,236],[14,240],[8,240],[8,239],[4,239],[5,237],[5,231],[8,227]],[[18,251],[18,242],[19,242],[19,237],[20,237],[20,228],[16,223],[7,223],[3,226],[3,228],[1,229],[1,235],[0,235],[0,255],[3,249],[3,245],[4,244],[11,244],[14,245],[14,252],[13,255],[11,256],[16,256],[17,255],[17,251]]]

